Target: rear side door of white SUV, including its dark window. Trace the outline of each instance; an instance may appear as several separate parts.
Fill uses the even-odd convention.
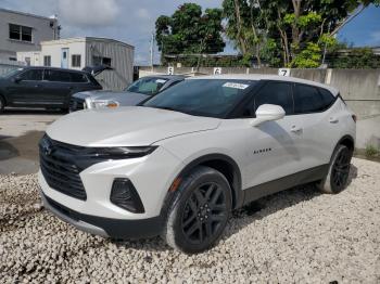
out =
[[[328,90],[294,83],[294,113],[303,121],[301,154],[307,168],[330,162],[332,141],[338,141],[340,135],[339,118],[330,108],[334,102],[335,98]]]

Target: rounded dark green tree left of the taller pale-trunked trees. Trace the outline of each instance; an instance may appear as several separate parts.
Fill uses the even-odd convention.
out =
[[[220,9],[206,9],[202,13],[202,8],[194,3],[180,5],[172,16],[160,16],[155,31],[162,59],[166,54],[199,54],[199,65],[202,54],[223,51],[221,21]]]

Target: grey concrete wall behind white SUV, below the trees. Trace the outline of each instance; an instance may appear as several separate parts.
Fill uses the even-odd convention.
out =
[[[189,74],[194,68],[174,68],[175,74]],[[150,67],[140,68],[148,76]],[[166,74],[167,67],[154,68]],[[214,68],[200,68],[200,75],[211,75]],[[278,74],[277,68],[221,68],[223,74]],[[380,147],[380,69],[291,69],[290,76],[331,85],[357,115],[357,147]]]

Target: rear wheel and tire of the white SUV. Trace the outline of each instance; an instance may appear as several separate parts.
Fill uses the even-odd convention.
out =
[[[337,146],[326,178],[317,184],[322,193],[337,194],[345,189],[352,156],[353,152],[347,146]]]

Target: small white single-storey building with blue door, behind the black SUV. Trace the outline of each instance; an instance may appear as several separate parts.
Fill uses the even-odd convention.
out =
[[[106,38],[68,38],[41,42],[39,52],[17,52],[17,61],[33,66],[83,69],[86,66],[109,65],[97,79],[107,90],[122,90],[134,79],[135,48]]]

